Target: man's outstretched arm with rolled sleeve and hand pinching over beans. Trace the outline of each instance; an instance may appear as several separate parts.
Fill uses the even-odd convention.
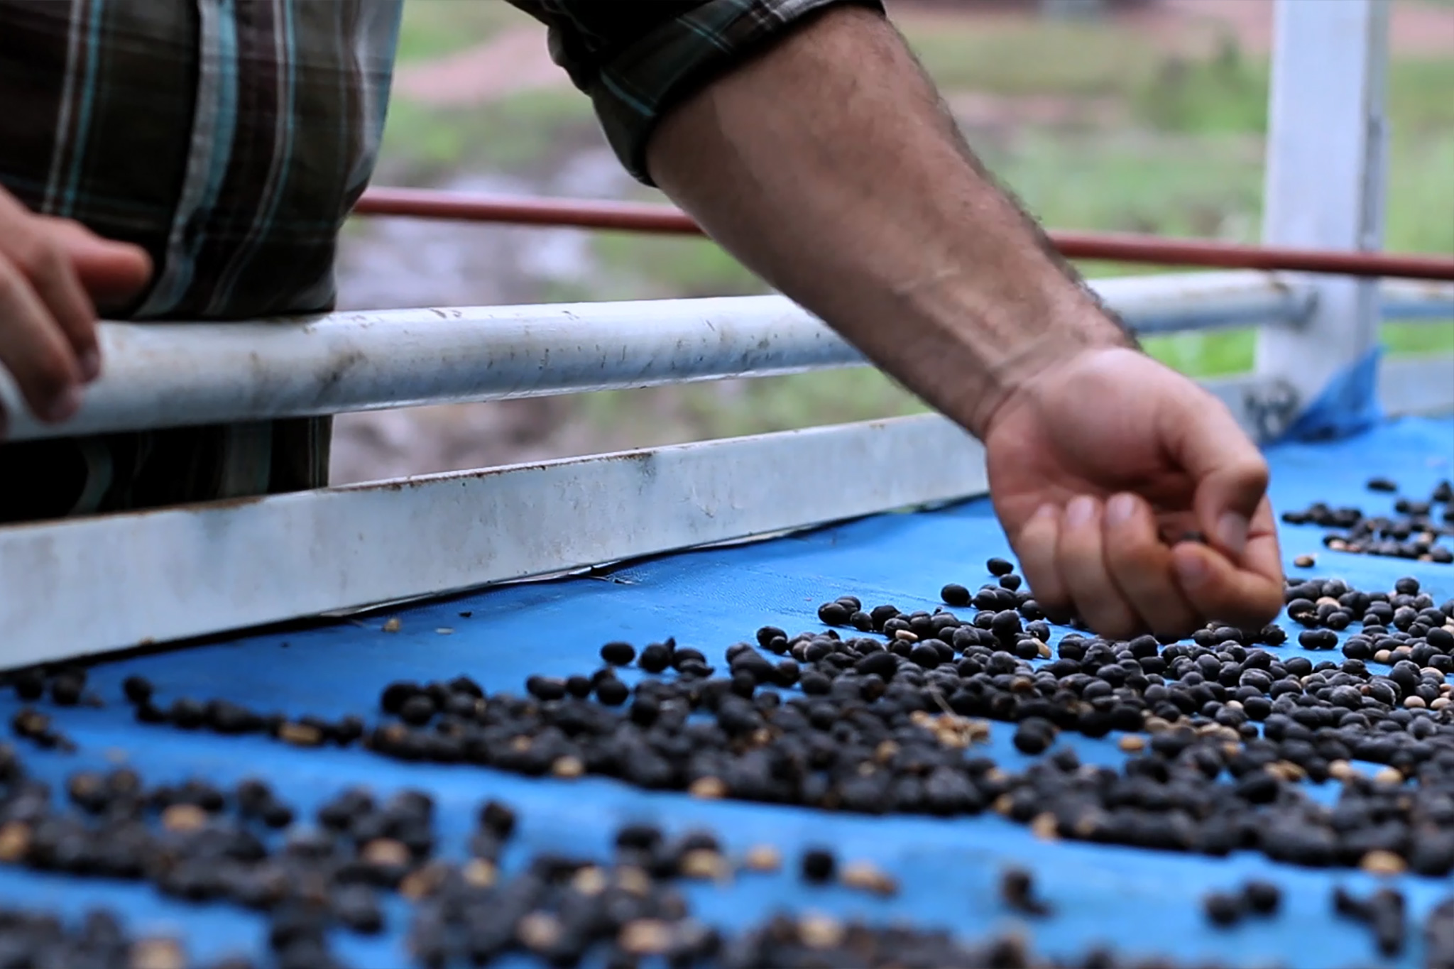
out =
[[[550,9],[553,49],[638,177],[986,443],[996,511],[1053,616],[1130,636],[1277,613],[1261,455],[1133,349],[874,4]],[[1188,532],[1211,545],[1176,542]]]

